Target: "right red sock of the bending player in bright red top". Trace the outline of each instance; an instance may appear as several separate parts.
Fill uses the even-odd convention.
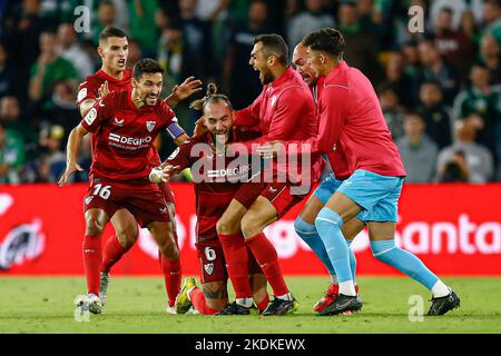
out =
[[[272,286],[273,294],[275,296],[287,294],[288,288],[285,285],[285,279],[278,265],[278,256],[272,243],[269,243],[263,233],[248,238],[246,243],[263,269],[269,286]]]

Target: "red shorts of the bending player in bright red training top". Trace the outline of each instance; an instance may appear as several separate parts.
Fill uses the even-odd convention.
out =
[[[235,194],[235,199],[238,200],[247,210],[258,196],[262,196],[272,202],[275,207],[277,218],[282,218],[287,211],[297,202],[307,197],[307,195],[293,195],[291,185],[285,182],[268,182],[257,184],[247,182]]]

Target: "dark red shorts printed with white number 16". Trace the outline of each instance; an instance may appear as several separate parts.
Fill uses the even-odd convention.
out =
[[[170,221],[164,196],[157,185],[144,179],[115,181],[95,178],[84,198],[84,211],[101,209],[111,218],[119,209],[126,208],[134,215],[140,227],[151,221]]]

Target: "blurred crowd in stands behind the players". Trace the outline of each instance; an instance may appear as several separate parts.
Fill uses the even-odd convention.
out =
[[[90,9],[82,33],[79,6]],[[424,11],[423,32],[407,29],[411,6]],[[0,184],[57,181],[80,120],[78,83],[100,68],[97,37],[110,24],[129,34],[128,66],[160,61],[164,97],[195,76],[236,109],[262,89],[248,66],[256,34],[282,34],[292,53],[308,32],[335,27],[345,60],[377,92],[407,182],[501,181],[500,0],[0,0]],[[188,103],[176,112],[190,134],[199,113]],[[160,156],[174,148],[163,137]]]

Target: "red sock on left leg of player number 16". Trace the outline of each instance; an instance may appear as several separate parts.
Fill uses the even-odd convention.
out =
[[[87,279],[87,293],[99,295],[99,271],[102,264],[101,237],[88,236],[84,238],[84,265]]]

